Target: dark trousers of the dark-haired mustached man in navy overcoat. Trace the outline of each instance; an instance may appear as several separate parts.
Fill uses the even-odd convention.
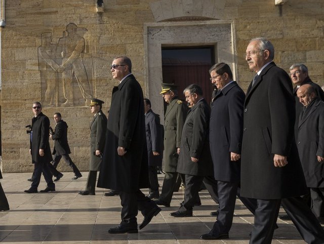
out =
[[[247,206],[247,208],[254,214],[256,209],[256,200],[254,204],[253,200],[241,197],[239,195],[239,183],[238,182],[226,182],[217,181],[219,208],[217,221],[214,223],[212,233],[213,235],[219,235],[228,233],[232,227],[233,215],[235,209],[236,195]]]

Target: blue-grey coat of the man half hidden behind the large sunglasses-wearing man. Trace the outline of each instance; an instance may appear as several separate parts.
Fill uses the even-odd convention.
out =
[[[145,114],[145,132],[148,165],[160,166],[163,156],[163,132],[161,131],[160,118],[152,109]],[[154,156],[153,151],[158,152],[160,155]]]

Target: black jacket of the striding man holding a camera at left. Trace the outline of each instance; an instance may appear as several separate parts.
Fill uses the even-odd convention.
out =
[[[53,155],[66,155],[70,154],[70,147],[67,143],[67,124],[63,119],[58,121],[55,126],[54,134],[52,135],[52,140],[54,140]]]

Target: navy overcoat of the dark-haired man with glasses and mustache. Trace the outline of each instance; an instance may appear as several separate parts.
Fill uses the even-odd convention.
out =
[[[236,82],[213,99],[209,140],[216,180],[240,182],[240,160],[231,161],[230,153],[241,154],[244,100]]]

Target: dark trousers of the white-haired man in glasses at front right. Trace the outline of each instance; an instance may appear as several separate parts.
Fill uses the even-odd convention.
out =
[[[254,229],[252,230],[250,243],[271,243],[274,226],[279,213],[280,202],[282,208],[285,209],[300,235],[307,243],[324,243],[324,231],[322,227],[306,202],[300,196],[270,200],[257,199]]]

